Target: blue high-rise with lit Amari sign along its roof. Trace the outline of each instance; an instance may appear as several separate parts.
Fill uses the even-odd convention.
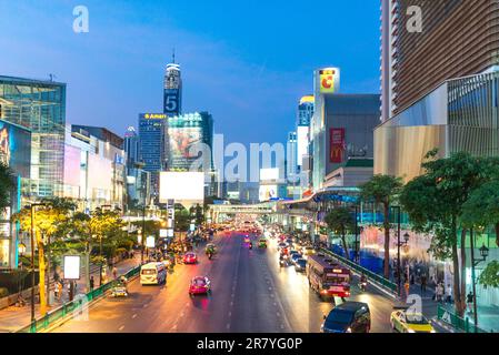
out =
[[[168,116],[164,113],[139,115],[139,158],[143,170],[150,173],[151,197],[159,199],[159,173],[167,169]]]

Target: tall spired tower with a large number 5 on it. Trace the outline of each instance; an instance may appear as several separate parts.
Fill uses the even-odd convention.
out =
[[[163,112],[168,115],[182,113],[182,77],[180,65],[173,60],[167,64],[164,72]]]

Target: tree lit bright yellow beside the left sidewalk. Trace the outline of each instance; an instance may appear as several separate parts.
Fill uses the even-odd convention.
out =
[[[64,231],[67,223],[70,219],[69,202],[58,200],[44,200],[46,205],[38,206],[34,215],[34,241],[38,250],[38,265],[40,273],[40,313],[47,314],[47,292],[46,292],[46,272],[47,272],[47,252],[50,247],[50,242],[57,239],[63,239],[64,235],[61,231]],[[67,204],[68,203],[68,204]],[[12,215],[12,221],[19,222],[20,229],[24,232],[31,231],[31,207],[27,206],[19,213]],[[49,262],[50,265],[50,262]]]

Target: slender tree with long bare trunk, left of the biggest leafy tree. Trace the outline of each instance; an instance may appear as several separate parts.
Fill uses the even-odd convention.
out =
[[[395,196],[400,193],[402,180],[390,175],[375,175],[360,187],[360,197],[365,202],[375,202],[383,209],[385,229],[385,267],[386,278],[390,277],[390,204]]]

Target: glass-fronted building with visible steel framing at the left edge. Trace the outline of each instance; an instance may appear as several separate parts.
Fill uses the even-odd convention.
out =
[[[0,118],[31,130],[28,200],[62,196],[66,130],[66,84],[0,77]]]

